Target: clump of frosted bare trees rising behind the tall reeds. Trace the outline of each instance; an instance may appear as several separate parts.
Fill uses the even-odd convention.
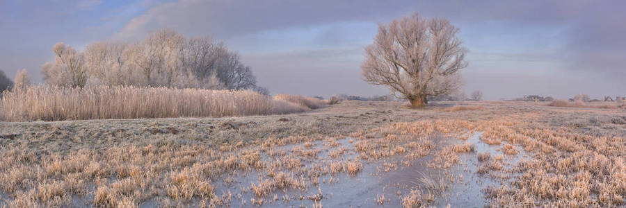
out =
[[[54,62],[42,67],[45,83],[65,87],[134,85],[203,89],[254,89],[250,67],[222,42],[209,37],[186,38],[161,29],[134,44],[96,42],[77,51],[57,43]]]

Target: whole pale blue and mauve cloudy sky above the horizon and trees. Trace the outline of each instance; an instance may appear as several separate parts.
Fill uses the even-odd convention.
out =
[[[469,50],[463,90],[626,96],[626,1],[0,0],[0,69],[41,83],[56,42],[83,49],[159,28],[221,40],[272,94],[388,94],[360,77],[378,24],[418,12],[447,18]]]

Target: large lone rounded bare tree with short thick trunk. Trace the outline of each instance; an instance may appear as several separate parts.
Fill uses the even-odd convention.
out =
[[[458,28],[447,19],[413,14],[380,24],[374,44],[365,48],[361,65],[365,81],[386,85],[412,107],[424,107],[427,96],[454,93],[463,84],[458,71],[467,67]]]

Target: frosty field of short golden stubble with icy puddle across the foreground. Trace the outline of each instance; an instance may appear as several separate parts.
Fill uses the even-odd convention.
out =
[[[0,207],[626,205],[623,109],[402,106],[0,123]]]

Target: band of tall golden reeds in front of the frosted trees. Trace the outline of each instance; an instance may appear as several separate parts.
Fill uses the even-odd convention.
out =
[[[65,121],[288,114],[310,110],[257,92],[166,87],[34,86],[5,92],[0,121]]]

